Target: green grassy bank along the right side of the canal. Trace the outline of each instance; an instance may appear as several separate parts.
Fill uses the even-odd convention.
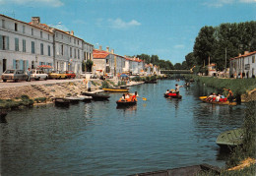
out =
[[[234,95],[245,94],[247,90],[256,88],[256,79],[218,79],[215,77],[185,76],[187,80],[194,79],[206,84],[208,87],[217,88],[224,92],[224,88],[230,88]]]

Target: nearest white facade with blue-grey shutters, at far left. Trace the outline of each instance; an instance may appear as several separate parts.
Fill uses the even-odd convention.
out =
[[[53,32],[0,15],[0,74],[53,65]]]

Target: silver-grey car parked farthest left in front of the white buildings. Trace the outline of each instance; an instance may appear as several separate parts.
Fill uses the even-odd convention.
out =
[[[19,80],[27,80],[28,75],[24,70],[6,70],[2,74],[3,82],[7,80],[13,80],[14,82],[18,82]]]

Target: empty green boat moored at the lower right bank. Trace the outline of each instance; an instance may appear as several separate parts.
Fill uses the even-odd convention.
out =
[[[241,128],[221,133],[216,140],[220,147],[237,147],[242,145],[243,130]]]

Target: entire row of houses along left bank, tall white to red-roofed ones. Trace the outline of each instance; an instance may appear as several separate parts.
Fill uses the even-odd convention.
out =
[[[32,17],[26,23],[0,14],[0,75],[7,69],[28,70],[50,65],[56,71],[82,73],[82,63],[93,60],[93,72],[118,76],[153,74],[158,67],[135,57],[121,56],[114,50],[94,48],[93,44],[74,35],[40,23]]]

